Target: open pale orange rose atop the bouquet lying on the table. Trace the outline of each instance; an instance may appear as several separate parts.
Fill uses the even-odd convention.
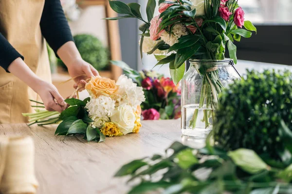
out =
[[[85,85],[85,89],[87,89],[92,97],[99,97],[101,95],[113,95],[117,92],[118,86],[114,80],[109,78],[91,77],[91,81]]]

